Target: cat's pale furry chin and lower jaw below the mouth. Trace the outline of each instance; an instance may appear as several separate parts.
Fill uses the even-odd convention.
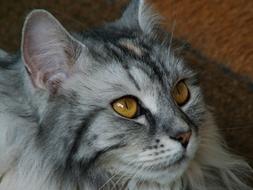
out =
[[[127,162],[113,162],[111,167],[104,168],[110,175],[119,175],[126,177],[129,181],[138,181],[143,184],[159,184],[168,186],[168,184],[181,181],[181,177],[186,172],[191,160],[194,159],[198,141],[193,138],[186,151],[181,151],[174,155],[174,160],[164,160],[164,162],[151,162],[145,165],[128,164]],[[108,166],[108,165],[107,165]],[[117,178],[117,177],[116,177]]]

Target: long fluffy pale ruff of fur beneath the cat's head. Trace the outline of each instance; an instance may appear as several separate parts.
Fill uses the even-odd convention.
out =
[[[211,116],[209,116],[211,117]],[[6,118],[13,119],[13,118]],[[17,120],[17,124],[24,124],[21,120]],[[84,181],[82,187],[79,182],[72,183],[65,177],[53,176],[53,166],[48,160],[41,160],[40,153],[35,147],[27,145],[27,139],[33,139],[33,130],[26,131],[26,137],[20,137],[18,144],[8,145],[1,149],[0,175],[1,190],[75,190],[77,188],[95,190],[95,189],[128,189],[128,190],[251,190],[249,186],[241,180],[242,177],[249,174],[251,168],[249,165],[237,156],[232,155],[225,150],[220,135],[217,132],[212,119],[206,123],[205,128],[201,128],[201,140],[199,149],[195,158],[191,161],[188,169],[182,177],[171,182],[170,184],[158,184],[156,182],[145,182],[140,179],[127,178],[112,183],[113,175],[108,176],[106,172],[95,174],[93,179],[104,179],[100,186],[93,187],[89,181]],[[31,123],[26,123],[32,126]],[[17,127],[17,126],[11,126]],[[1,129],[7,138],[12,138],[14,131]],[[30,141],[29,140],[29,141]],[[32,140],[31,140],[32,141]],[[24,151],[20,151],[21,147]],[[4,151],[4,152],[3,152]],[[33,158],[33,159],[31,159]],[[94,175],[97,175],[94,177]],[[109,179],[109,181],[108,181]],[[117,181],[117,180],[116,180]]]

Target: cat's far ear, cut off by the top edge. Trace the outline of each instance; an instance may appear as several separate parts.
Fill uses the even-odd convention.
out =
[[[147,0],[132,0],[119,22],[132,29],[141,29],[152,34],[159,27],[160,16],[154,14]]]

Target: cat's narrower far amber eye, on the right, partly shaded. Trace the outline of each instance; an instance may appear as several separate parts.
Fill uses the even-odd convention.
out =
[[[179,106],[187,103],[190,98],[190,92],[183,80],[176,84],[172,91],[172,96]]]

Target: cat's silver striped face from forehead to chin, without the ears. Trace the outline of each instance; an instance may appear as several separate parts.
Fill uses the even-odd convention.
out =
[[[145,49],[136,41],[128,43],[142,55],[123,53],[121,45],[111,44],[122,60],[111,57],[102,64],[94,60],[64,85],[79,97],[81,112],[92,113],[76,157],[102,152],[97,164],[113,174],[168,182],[182,174],[196,152],[197,131],[204,119],[201,92],[195,75],[167,47],[146,39]],[[185,98],[183,104],[173,96],[175,91]]]

